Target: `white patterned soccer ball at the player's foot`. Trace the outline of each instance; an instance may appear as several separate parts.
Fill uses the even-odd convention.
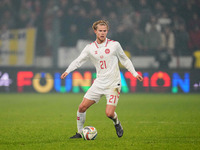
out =
[[[97,130],[95,127],[86,126],[81,134],[84,140],[94,140],[97,137]]]

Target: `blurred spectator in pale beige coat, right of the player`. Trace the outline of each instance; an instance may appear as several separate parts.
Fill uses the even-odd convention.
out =
[[[165,27],[161,34],[162,49],[166,49],[170,55],[174,55],[175,36],[170,27]]]

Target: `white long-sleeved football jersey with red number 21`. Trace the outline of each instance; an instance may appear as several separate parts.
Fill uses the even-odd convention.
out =
[[[113,88],[121,84],[119,61],[133,76],[138,75],[119,42],[107,38],[102,44],[98,44],[96,41],[88,44],[80,56],[69,65],[66,72],[74,71],[87,60],[94,64],[97,72],[94,83],[101,88]]]

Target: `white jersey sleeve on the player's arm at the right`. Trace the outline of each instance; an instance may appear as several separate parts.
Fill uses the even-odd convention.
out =
[[[121,45],[119,43],[117,43],[117,49],[116,49],[116,53],[117,53],[117,57],[119,59],[119,61],[121,62],[121,64],[129,71],[132,73],[132,75],[134,77],[136,77],[138,75],[138,73],[135,71],[135,68],[131,62],[131,60],[126,56],[126,54],[124,53]]]

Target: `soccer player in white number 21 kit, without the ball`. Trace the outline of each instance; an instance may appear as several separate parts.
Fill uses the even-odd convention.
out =
[[[81,138],[81,132],[86,118],[86,110],[94,103],[98,103],[103,95],[105,95],[107,99],[106,115],[113,120],[117,136],[122,137],[123,128],[117,117],[117,113],[115,112],[121,90],[118,61],[120,61],[121,64],[139,81],[142,81],[143,77],[135,71],[133,64],[125,55],[119,42],[107,38],[109,30],[107,21],[96,21],[92,28],[96,34],[96,41],[88,44],[83,49],[80,56],[76,58],[61,75],[61,79],[64,79],[70,72],[79,68],[87,60],[90,60],[94,64],[97,72],[97,78],[84,95],[84,98],[78,107],[78,132],[70,138]]]

